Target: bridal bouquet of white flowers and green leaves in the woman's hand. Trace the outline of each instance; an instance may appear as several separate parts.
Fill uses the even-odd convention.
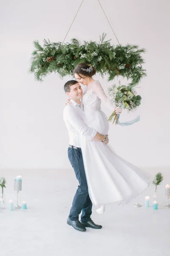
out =
[[[132,85],[117,85],[108,88],[108,97],[115,108],[123,108],[128,111],[135,110],[141,104],[141,96],[137,95]],[[116,110],[109,116],[109,122],[118,123],[119,115]]]

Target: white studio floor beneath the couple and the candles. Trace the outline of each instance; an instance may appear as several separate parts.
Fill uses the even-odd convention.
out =
[[[170,209],[164,185],[170,183],[169,169],[162,172],[164,182],[159,186],[159,209],[144,208],[144,196],[150,195],[151,185],[139,196],[141,208],[133,201],[125,207],[106,208],[92,219],[102,224],[102,230],[85,233],[66,224],[77,181],[70,170],[0,171],[7,179],[6,209],[0,210],[0,256],[168,256],[170,255]],[[8,210],[8,200],[16,201],[14,178],[21,175],[23,190],[19,204],[27,201],[27,210]]]

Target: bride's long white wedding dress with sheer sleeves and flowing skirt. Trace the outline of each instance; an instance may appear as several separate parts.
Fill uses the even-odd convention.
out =
[[[100,109],[101,101],[113,112],[101,84],[94,81],[82,98],[84,121],[88,127],[105,135],[108,134],[109,124],[107,116]],[[89,195],[98,213],[104,212],[105,204],[125,204],[149,185],[150,175],[119,157],[109,144],[81,136],[81,148]]]

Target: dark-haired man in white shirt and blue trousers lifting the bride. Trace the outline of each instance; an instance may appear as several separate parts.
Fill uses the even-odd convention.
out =
[[[98,140],[103,143],[108,143],[108,135],[99,134],[94,129],[87,127],[83,122],[83,106],[82,87],[75,80],[68,81],[64,85],[65,93],[70,96],[71,103],[64,109],[63,118],[68,129],[70,138],[68,147],[68,159],[74,169],[79,186],[74,195],[70,214],[67,219],[67,224],[79,231],[86,231],[85,227],[101,229],[101,225],[97,225],[91,220],[92,202],[88,194],[88,184],[85,175],[85,168],[82,159],[82,151],[79,136],[85,136],[88,140]],[[81,222],[79,221],[79,214]]]

